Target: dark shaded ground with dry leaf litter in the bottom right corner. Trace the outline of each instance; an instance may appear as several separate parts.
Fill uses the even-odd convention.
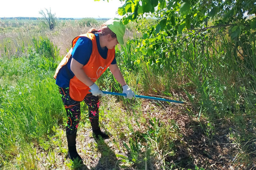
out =
[[[229,137],[234,127],[223,126],[222,122],[215,123],[216,129],[212,134],[206,123],[200,124],[191,120],[185,127],[187,131],[182,134],[186,144],[176,141],[176,155],[167,157],[166,161],[173,161],[177,167],[192,170],[195,169],[195,165],[209,170],[256,169],[254,153],[256,145],[253,143],[255,138],[244,143],[236,143]]]

